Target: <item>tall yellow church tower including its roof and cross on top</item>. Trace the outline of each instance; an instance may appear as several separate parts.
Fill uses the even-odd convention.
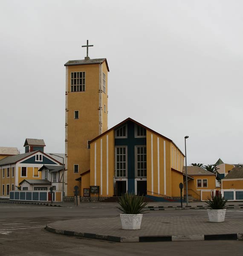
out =
[[[66,67],[65,196],[81,194],[80,174],[90,169],[89,141],[107,131],[108,95],[106,58],[68,61]]]

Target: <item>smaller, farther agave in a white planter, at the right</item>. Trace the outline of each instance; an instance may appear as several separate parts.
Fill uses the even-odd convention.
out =
[[[208,218],[210,222],[223,222],[226,213],[227,199],[222,195],[215,195],[212,198],[207,198],[205,201],[208,205]]]

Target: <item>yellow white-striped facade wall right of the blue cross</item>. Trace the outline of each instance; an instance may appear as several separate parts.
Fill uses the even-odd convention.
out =
[[[153,196],[172,196],[170,142],[147,130],[147,193]],[[151,146],[152,145],[152,146]],[[158,154],[159,147],[159,154]],[[165,148],[165,155],[164,155]],[[153,153],[152,153],[153,151]],[[159,167],[159,168],[158,168]],[[153,175],[152,175],[153,172]],[[159,172],[159,175],[158,175]]]

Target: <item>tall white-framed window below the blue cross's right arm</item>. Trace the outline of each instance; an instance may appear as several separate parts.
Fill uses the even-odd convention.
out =
[[[136,173],[137,177],[147,177],[147,148],[136,146]]]

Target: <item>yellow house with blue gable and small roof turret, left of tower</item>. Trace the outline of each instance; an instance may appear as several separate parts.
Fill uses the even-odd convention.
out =
[[[30,148],[30,146],[32,146],[32,148]],[[33,149],[38,149],[35,148],[35,146],[37,146],[39,150],[33,151]],[[43,140],[26,139],[25,147],[28,147],[30,151],[24,154],[15,154],[0,160],[0,198],[17,199],[14,198],[14,192],[23,190],[23,186],[25,187],[24,190],[26,190],[26,187],[28,187],[28,190],[38,190],[38,188],[41,190],[41,186],[26,186],[26,184],[30,184],[28,181],[32,181],[33,185],[33,180],[36,184],[41,182],[46,183],[47,181],[48,184],[51,184],[53,177],[58,174],[58,180],[55,180],[55,190],[60,193],[59,197],[61,201],[62,186],[60,184],[62,183],[62,158],[64,154],[56,154],[56,156],[54,156],[45,153],[43,150],[44,146],[45,143]],[[39,171],[41,168],[43,170],[43,166],[47,166],[45,167],[46,169]],[[51,172],[50,170],[55,170],[56,172]],[[45,186],[45,189],[48,188],[49,186]],[[11,194],[11,192],[13,193]],[[11,195],[13,198],[11,198]]]

